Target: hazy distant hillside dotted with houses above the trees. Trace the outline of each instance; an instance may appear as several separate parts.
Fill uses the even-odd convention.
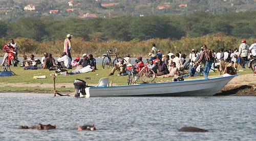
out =
[[[189,15],[196,11],[213,14],[256,10],[256,0],[0,0],[0,20],[54,16],[109,18],[122,15]]]

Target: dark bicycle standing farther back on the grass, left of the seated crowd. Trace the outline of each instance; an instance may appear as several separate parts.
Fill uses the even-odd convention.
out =
[[[122,57],[118,57],[117,56],[117,49],[116,48],[113,48],[114,51],[112,50],[106,50],[106,54],[103,54],[104,58],[102,60],[102,67],[103,69],[104,68],[110,68],[111,67],[114,67],[116,63],[118,63],[120,61],[120,59],[123,59]],[[115,59],[113,60],[112,62],[112,59],[111,57],[114,56]],[[125,59],[123,59],[124,62],[126,62]]]

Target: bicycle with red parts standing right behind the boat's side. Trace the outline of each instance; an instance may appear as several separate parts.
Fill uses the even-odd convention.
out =
[[[148,59],[147,59],[148,62]],[[138,62],[137,62],[138,63]],[[143,66],[140,69],[140,66]],[[145,83],[154,81],[156,74],[154,70],[147,67],[147,64],[141,64],[137,66],[132,66],[131,71],[127,78],[127,84],[136,84],[139,79]]]

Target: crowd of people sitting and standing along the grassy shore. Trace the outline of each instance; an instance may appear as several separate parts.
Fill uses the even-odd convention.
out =
[[[77,56],[72,60],[70,52],[72,45],[71,38],[72,35],[68,34],[64,41],[63,52],[59,55],[57,60],[52,57],[51,53],[44,53],[41,60],[35,59],[33,54],[30,55],[30,58],[27,58],[27,56],[24,55],[22,65],[20,66],[25,67],[25,69],[41,68],[49,70],[72,69],[75,67],[76,69],[73,70],[73,72],[66,73],[70,75],[96,70],[96,59],[92,54],[83,54],[81,59]],[[147,59],[147,62],[144,63],[142,57],[138,57],[133,65],[137,67],[138,72],[147,65],[148,68],[155,72],[157,77],[174,77],[174,81],[184,80],[180,75],[180,71],[183,72],[184,70],[188,70],[188,77],[200,76],[203,73],[205,79],[208,78],[208,73],[210,71],[215,72],[215,70],[219,70],[220,75],[227,72],[235,74],[238,65],[245,68],[245,64],[256,56],[256,39],[254,41],[255,43],[249,46],[246,44],[246,40],[242,39],[239,49],[220,49],[217,52],[207,49],[206,45],[202,45],[200,51],[192,49],[188,57],[186,54],[181,54],[181,52],[175,54],[168,52],[168,54],[164,55],[157,49],[156,44],[153,43],[150,53],[148,54],[150,59]],[[8,62],[8,65],[10,65],[11,58],[9,53],[13,53],[14,57],[17,58],[17,44],[11,39],[10,43],[5,45],[3,50],[5,55],[2,65],[4,66],[6,61]],[[116,70],[119,72],[118,75],[120,76],[127,75],[127,71],[130,70],[131,66],[130,54],[126,54],[124,59],[121,59],[118,63],[114,64],[110,76],[114,75]],[[226,67],[233,70],[225,70]]]

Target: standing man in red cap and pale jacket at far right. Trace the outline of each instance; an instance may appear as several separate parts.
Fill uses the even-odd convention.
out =
[[[249,54],[249,45],[246,44],[246,40],[242,39],[242,43],[239,46],[239,55],[243,58],[242,67],[245,68],[245,63]]]

